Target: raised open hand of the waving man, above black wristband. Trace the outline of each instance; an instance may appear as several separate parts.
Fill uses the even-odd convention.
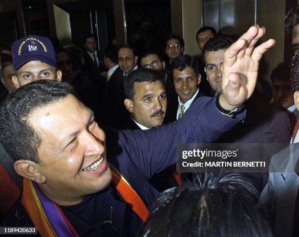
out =
[[[252,26],[224,53],[222,70],[222,94],[220,105],[227,110],[243,104],[256,86],[258,63],[263,54],[275,44],[270,39],[255,47],[265,28]]]

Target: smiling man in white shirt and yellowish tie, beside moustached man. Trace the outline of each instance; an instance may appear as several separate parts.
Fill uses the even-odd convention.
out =
[[[170,98],[166,117],[168,122],[181,118],[194,100],[204,96],[198,89],[201,75],[194,58],[189,55],[176,57],[171,63],[170,72],[176,95]]]

